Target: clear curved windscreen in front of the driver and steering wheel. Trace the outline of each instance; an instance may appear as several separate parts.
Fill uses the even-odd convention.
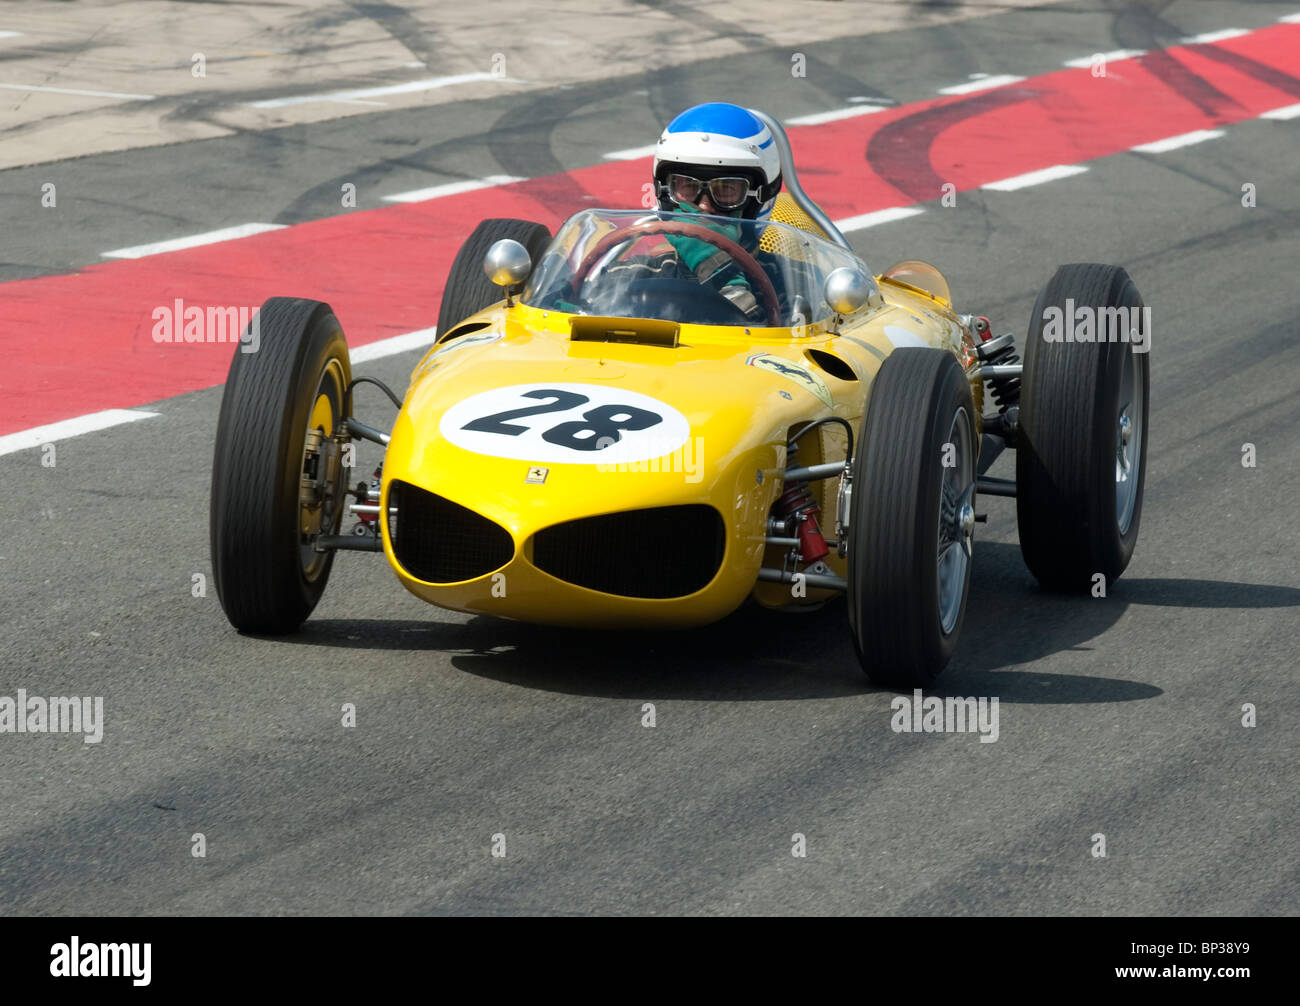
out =
[[[585,209],[560,227],[521,300],[571,315],[793,328],[831,317],[822,289],[841,268],[871,282],[854,255],[785,224]]]

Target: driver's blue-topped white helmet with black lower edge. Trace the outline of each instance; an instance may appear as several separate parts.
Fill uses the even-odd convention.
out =
[[[655,194],[660,209],[679,209],[668,190],[668,175],[702,181],[728,175],[750,179],[751,195],[738,214],[763,220],[781,191],[781,157],[772,131],[740,105],[710,101],[688,108],[659,136],[654,156]]]

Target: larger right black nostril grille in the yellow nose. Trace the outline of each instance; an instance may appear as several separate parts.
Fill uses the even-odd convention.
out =
[[[722,515],[692,503],[546,528],[533,538],[533,565],[602,594],[680,598],[714,578],[724,548]]]

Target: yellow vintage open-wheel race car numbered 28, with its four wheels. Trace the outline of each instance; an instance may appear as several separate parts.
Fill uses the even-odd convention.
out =
[[[437,343],[404,399],[390,393],[391,433],[354,415],[372,378],[352,377],[329,305],[268,300],[260,351],[234,355],[213,461],[230,623],[295,630],[343,550],[382,551],[433,604],[567,626],[692,626],[748,598],[844,594],[870,678],[913,688],[957,645],[980,494],[1015,498],[1044,586],[1119,576],[1141,515],[1149,355],[1045,325],[1140,308],[1127,273],[1058,269],[1022,363],[1011,334],[957,313],[933,266],[874,274],[764,121],[786,191],[740,239],[720,226],[734,220],[659,211],[585,209],[554,238],[484,221]],[[671,237],[724,252],[758,322],[650,268],[646,247]],[[380,478],[354,484],[354,438],[385,447]],[[987,476],[1008,447],[1015,478]]]

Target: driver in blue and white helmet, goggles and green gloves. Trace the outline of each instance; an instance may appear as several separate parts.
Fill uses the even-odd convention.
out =
[[[740,105],[711,101],[688,108],[659,136],[654,186],[663,211],[766,221],[781,190],[781,161],[772,131]],[[748,251],[758,243],[759,227],[718,220],[701,224]],[[670,234],[653,253],[660,259],[659,268],[675,261],[679,269],[722,292],[748,318],[763,317],[749,281],[727,252],[698,238]]]

